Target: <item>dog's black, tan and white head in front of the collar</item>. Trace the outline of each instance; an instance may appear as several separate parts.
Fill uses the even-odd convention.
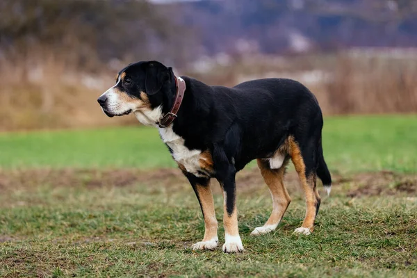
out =
[[[116,84],[97,99],[108,117],[134,113],[142,124],[155,125],[162,117],[162,104],[170,88],[172,68],[156,62],[128,65],[116,76]]]

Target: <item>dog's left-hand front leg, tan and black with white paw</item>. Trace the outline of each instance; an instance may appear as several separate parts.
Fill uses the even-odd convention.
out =
[[[191,174],[187,174],[186,176],[191,186],[193,186],[195,195],[197,195],[204,217],[204,238],[202,241],[193,245],[193,250],[214,250],[218,245],[218,222],[215,218],[210,179],[198,178]]]

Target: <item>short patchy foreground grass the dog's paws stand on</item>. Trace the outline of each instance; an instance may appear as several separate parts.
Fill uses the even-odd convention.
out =
[[[186,275],[415,277],[417,199],[347,198],[345,183],[324,198],[316,230],[295,236],[304,216],[300,193],[277,231],[253,237],[267,220],[266,186],[238,189],[243,254],[192,252],[204,224],[183,182],[144,186],[15,188],[0,197],[0,275],[137,277]],[[218,221],[222,196],[215,186]],[[220,224],[220,246],[224,231]]]

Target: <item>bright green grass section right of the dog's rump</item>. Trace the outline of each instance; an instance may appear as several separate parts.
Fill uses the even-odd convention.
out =
[[[341,172],[417,172],[417,116],[325,119],[323,149],[329,168]]]

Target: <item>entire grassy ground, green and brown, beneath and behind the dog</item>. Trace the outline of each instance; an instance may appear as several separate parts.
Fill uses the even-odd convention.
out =
[[[292,234],[305,211],[291,167],[293,202],[258,237],[268,188],[254,163],[238,174],[243,254],[190,250],[202,215],[156,130],[0,134],[0,277],[416,277],[417,117],[332,117],[323,134],[334,187],[311,236]]]

